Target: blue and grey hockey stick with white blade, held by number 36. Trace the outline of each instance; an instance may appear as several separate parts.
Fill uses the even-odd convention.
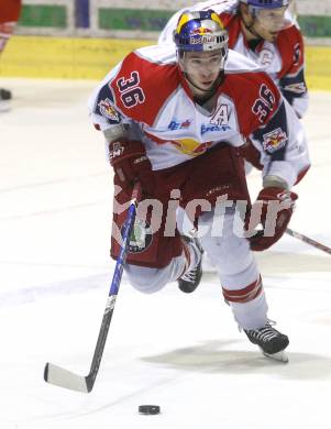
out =
[[[130,235],[134,224],[136,208],[140,199],[141,199],[141,185],[136,183],[132,191],[132,199],[130,202],[126,221],[124,224],[121,252],[118,257],[114,273],[112,276],[112,282],[111,282],[111,286],[110,286],[110,290],[108,294],[107,304],[102,317],[102,322],[99,330],[98,341],[96,344],[95,354],[93,354],[92,363],[88,375],[87,376],[77,375],[71,373],[70,371],[67,371],[60,366],[47,362],[44,370],[45,382],[55,384],[56,386],[65,387],[71,391],[84,392],[84,393],[89,393],[93,388],[95,381],[98,375],[99,366],[101,363],[101,358],[104,350],[107,334],[112,318],[112,314],[114,310],[117,296],[120,288],[120,283],[123,274],[123,266],[128,255]]]

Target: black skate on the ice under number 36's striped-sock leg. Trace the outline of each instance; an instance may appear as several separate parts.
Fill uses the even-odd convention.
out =
[[[260,346],[266,358],[288,362],[288,358],[284,352],[289,343],[288,337],[273,328],[269,321],[263,328],[244,329],[244,332],[253,344]]]

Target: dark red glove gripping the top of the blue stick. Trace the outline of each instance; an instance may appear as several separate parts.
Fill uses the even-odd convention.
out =
[[[154,182],[145,146],[136,140],[119,140],[109,144],[109,161],[114,169],[114,184],[131,196],[135,180],[140,180],[145,195],[153,195]]]

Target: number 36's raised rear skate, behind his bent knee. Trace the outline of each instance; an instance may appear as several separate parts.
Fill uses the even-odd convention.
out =
[[[196,254],[198,255],[198,263],[191,270],[187,270],[180,278],[178,278],[178,287],[181,292],[190,294],[196,290],[199,286],[202,277],[202,254],[203,250],[198,239],[183,235],[186,245],[191,245],[195,248]]]

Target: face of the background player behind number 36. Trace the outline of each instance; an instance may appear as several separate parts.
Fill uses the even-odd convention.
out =
[[[267,42],[275,42],[280,30],[286,25],[285,12],[287,7],[257,10],[254,30]]]

